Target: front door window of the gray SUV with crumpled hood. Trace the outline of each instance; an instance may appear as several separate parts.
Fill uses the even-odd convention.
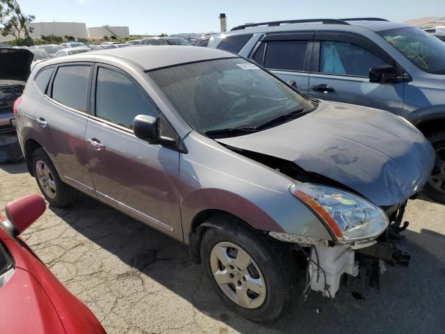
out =
[[[132,129],[133,119],[138,115],[159,116],[145,92],[120,72],[99,67],[96,85],[99,118]]]

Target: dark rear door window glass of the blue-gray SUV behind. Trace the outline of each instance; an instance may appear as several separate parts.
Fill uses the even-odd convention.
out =
[[[264,67],[274,70],[304,70],[307,43],[307,40],[267,42]]]

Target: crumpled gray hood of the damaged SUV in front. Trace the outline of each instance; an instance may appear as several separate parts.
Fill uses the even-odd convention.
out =
[[[421,190],[435,161],[430,143],[402,118],[336,102],[271,129],[217,141],[293,161],[380,206]]]

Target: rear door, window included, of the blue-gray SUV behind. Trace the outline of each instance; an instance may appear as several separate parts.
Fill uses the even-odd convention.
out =
[[[295,81],[300,91],[308,93],[314,35],[314,31],[266,34],[251,58],[284,81]]]

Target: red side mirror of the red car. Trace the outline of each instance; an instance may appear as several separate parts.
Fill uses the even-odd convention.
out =
[[[13,237],[17,237],[42,216],[45,209],[47,205],[42,196],[33,194],[18,198],[6,205],[8,221],[1,224]]]

